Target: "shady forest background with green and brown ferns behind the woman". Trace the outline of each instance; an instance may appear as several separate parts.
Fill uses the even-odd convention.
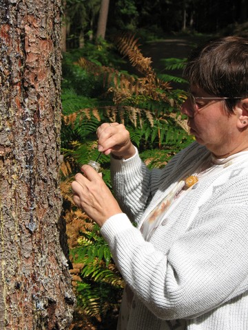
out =
[[[124,287],[98,226],[70,191],[81,164],[99,155],[97,127],[123,122],[147,166],[164,166],[193,140],[178,110],[185,58],[211,37],[247,36],[247,14],[247,0],[64,2],[61,190],[77,298],[71,329],[116,329]],[[112,188],[110,159],[99,162]]]

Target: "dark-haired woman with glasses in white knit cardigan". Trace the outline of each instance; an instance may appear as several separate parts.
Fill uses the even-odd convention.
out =
[[[72,183],[127,283],[121,330],[248,329],[248,40],[199,47],[185,77],[196,142],[148,170],[125,126],[105,123],[116,199],[90,166]]]

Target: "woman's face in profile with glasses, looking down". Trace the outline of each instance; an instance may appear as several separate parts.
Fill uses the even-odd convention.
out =
[[[203,89],[190,89],[193,96],[210,97]],[[214,98],[214,96],[213,96]],[[215,155],[224,155],[233,144],[237,133],[237,116],[227,114],[224,100],[196,100],[187,98],[181,107],[181,112],[188,116],[190,133],[196,137],[199,144],[205,145]]]

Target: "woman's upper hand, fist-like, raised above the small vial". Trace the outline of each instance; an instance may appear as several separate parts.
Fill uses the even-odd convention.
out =
[[[96,131],[98,137],[98,149],[101,153],[119,159],[127,159],[135,154],[135,148],[130,140],[130,133],[123,124],[118,122],[101,124]]]

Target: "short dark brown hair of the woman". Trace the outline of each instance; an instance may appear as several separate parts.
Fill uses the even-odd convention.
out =
[[[248,95],[248,39],[226,36],[196,47],[183,76],[210,95],[246,98]],[[237,99],[225,100],[229,112]]]

